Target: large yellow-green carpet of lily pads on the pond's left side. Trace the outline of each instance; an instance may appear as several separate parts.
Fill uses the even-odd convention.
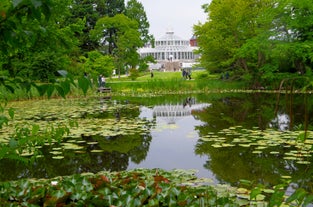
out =
[[[109,100],[20,101],[12,102],[10,106],[16,111],[15,117],[2,128],[0,143],[3,146],[24,145],[18,154],[25,157],[41,156],[36,151],[44,145],[51,146],[53,159],[63,159],[66,151],[127,153],[140,145],[142,140],[138,139],[149,134],[153,124],[137,116],[120,116],[121,113],[129,114],[125,110],[136,112],[139,108],[112,104]],[[113,139],[117,137],[118,144]],[[21,143],[22,140],[27,140],[27,144]]]

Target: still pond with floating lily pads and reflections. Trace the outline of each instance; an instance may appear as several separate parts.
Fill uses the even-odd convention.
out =
[[[95,97],[10,103],[4,127],[41,129],[75,122],[62,140],[38,146],[32,164],[0,161],[0,180],[50,178],[134,168],[195,169],[213,183],[250,180],[272,186],[313,187],[312,108],[309,95],[270,93]],[[304,129],[308,129],[304,137]],[[27,152],[23,156],[30,156]]]

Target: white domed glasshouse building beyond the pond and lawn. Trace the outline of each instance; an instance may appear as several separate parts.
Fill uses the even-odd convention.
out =
[[[156,60],[156,64],[149,65],[150,69],[172,71],[184,65],[193,65],[198,58],[194,54],[196,49],[190,45],[190,40],[184,40],[168,30],[163,37],[155,40],[154,48],[148,45],[139,49],[139,54],[141,57],[152,56]]]

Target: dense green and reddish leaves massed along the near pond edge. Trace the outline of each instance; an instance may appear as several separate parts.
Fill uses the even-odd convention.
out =
[[[137,169],[0,183],[2,205],[22,206],[239,206],[235,196],[190,185],[182,170]],[[226,196],[225,196],[226,195]]]

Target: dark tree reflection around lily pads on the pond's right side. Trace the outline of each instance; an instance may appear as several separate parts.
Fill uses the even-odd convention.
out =
[[[312,113],[313,109],[304,110],[305,106],[301,102],[301,97],[293,99],[293,104],[290,104],[289,100],[289,98],[281,100],[278,107],[279,114],[288,117],[284,121],[277,120],[281,116],[278,117],[275,113],[275,95],[244,94],[241,97],[224,97],[214,100],[211,101],[210,108],[194,113],[196,119],[204,123],[197,126],[196,130],[200,136],[215,133],[219,137],[226,137],[227,142],[231,142],[236,135],[220,133],[223,129],[239,125],[243,129],[256,127],[258,130],[269,127],[276,130],[290,129],[291,124],[301,125],[304,117],[307,116],[305,113]],[[292,111],[295,113],[291,114]],[[293,123],[290,123],[289,117],[292,117]],[[204,167],[212,171],[221,183],[239,185],[238,181],[246,179],[264,185],[275,185],[282,182],[282,175],[290,175],[293,177],[293,181],[301,186],[303,178],[310,177],[313,173],[311,166],[297,164],[294,160],[285,160],[283,155],[287,149],[284,146],[268,147],[258,154],[253,153],[251,147],[214,148],[212,143],[214,143],[214,138],[212,138],[212,142],[199,140],[195,153],[209,157]],[[272,151],[279,153],[273,154]],[[310,160],[312,159],[310,158]],[[303,172],[306,172],[307,175],[303,176]]]

